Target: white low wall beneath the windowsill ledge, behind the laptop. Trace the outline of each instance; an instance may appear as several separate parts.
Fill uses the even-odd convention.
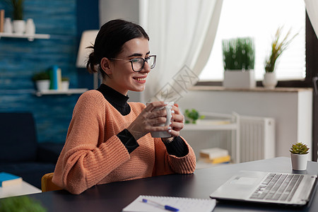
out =
[[[310,89],[300,92],[190,90],[178,103],[183,110],[194,108],[228,114],[234,111],[247,116],[273,117],[276,120],[276,157],[289,157],[290,146],[298,141],[312,147]]]

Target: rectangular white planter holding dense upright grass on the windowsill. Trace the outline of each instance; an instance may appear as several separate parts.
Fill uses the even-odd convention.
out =
[[[255,88],[254,70],[225,70],[223,87],[225,88]]]

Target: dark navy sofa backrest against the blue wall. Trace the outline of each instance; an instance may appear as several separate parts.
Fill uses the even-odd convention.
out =
[[[0,163],[35,161],[37,136],[33,114],[0,113]]]

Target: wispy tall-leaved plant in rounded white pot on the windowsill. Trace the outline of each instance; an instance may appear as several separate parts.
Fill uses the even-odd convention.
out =
[[[290,42],[293,41],[293,39],[298,35],[296,33],[295,35],[291,36],[291,29],[288,30],[288,33],[286,33],[285,37],[283,37],[283,40],[281,40],[283,27],[279,27],[276,30],[276,34],[273,37],[273,41],[271,42],[271,53],[269,54],[269,57],[265,60],[265,73],[264,73],[264,80],[263,80],[263,86],[265,88],[273,89],[277,85],[277,79],[276,79],[276,61],[278,57],[281,56],[281,54],[285,51],[285,49],[288,48],[290,45]],[[290,37],[291,36],[291,37]]]

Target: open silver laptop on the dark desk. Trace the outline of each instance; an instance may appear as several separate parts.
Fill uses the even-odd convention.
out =
[[[210,197],[287,206],[306,206],[314,193],[317,175],[240,171]]]

